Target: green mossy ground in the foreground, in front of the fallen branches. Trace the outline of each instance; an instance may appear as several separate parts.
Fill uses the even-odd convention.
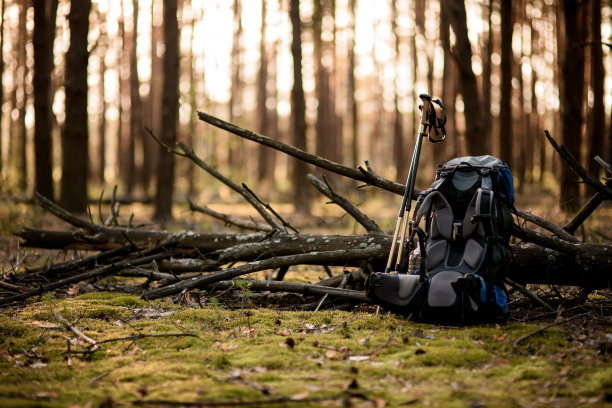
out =
[[[54,314],[110,341],[83,354],[91,345]],[[0,314],[0,406],[610,403],[608,355],[562,325],[513,346],[539,327],[440,327],[358,310],[230,311],[104,292],[48,297]]]

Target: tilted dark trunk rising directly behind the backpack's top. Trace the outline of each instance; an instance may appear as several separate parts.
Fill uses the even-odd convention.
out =
[[[476,75],[472,70],[472,45],[468,38],[467,17],[464,1],[445,0],[448,17],[455,33],[453,56],[460,75],[459,90],[463,97],[465,116],[465,136],[468,154],[481,155],[487,150],[487,135],[483,131],[482,106],[478,94]]]

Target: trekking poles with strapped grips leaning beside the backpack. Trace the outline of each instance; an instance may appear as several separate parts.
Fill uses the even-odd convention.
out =
[[[412,152],[412,160],[410,161],[410,169],[408,171],[408,178],[406,180],[406,189],[404,190],[404,197],[402,198],[402,204],[400,206],[399,214],[397,216],[397,223],[395,225],[395,232],[393,233],[393,240],[391,241],[391,251],[389,252],[389,259],[387,260],[387,267],[385,268],[385,273],[389,273],[391,271],[391,266],[393,265],[393,259],[395,255],[395,248],[399,246],[397,258],[395,262],[395,270],[399,271],[402,253],[403,253],[403,243],[406,239],[406,229],[408,226],[408,215],[410,215],[410,208],[412,206],[412,196],[414,194],[414,184],[416,181],[417,169],[419,166],[419,157],[421,155],[421,146],[423,144],[423,138],[428,137],[429,140],[433,143],[441,142],[446,137],[446,133],[444,132],[444,123],[446,122],[446,116],[443,117],[442,120],[438,120],[436,117],[436,113],[434,107],[432,105],[431,96],[427,94],[419,95],[423,104],[419,107],[421,109],[421,121],[419,124],[419,131],[417,133],[417,140]],[[438,104],[442,111],[444,112],[444,105],[440,100],[433,101]],[[435,122],[435,123],[432,123]],[[430,135],[432,129],[436,129],[436,134],[438,133],[437,128],[442,129],[443,137],[441,139],[433,139]],[[401,238],[398,242],[398,235]]]

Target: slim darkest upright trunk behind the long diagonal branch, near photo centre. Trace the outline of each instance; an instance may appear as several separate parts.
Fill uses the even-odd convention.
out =
[[[291,88],[291,120],[293,146],[306,150],[306,101],[302,85],[302,22],[300,2],[291,0],[289,16],[292,25],[291,54],[293,56],[293,87]],[[294,161],[291,183],[293,185],[293,204],[296,211],[310,213],[310,189],[306,183],[308,166],[302,161]]]

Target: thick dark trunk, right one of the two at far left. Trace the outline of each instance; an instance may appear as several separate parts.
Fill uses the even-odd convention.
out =
[[[85,213],[89,169],[87,128],[87,34],[91,0],[70,4],[70,47],[66,52],[66,125],[62,133],[62,206]]]

